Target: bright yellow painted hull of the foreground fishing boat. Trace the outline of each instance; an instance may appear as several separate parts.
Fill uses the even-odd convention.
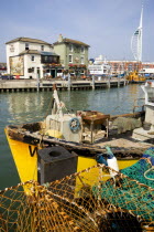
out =
[[[40,148],[33,145],[11,139],[8,135],[7,138],[21,182],[25,182],[29,180],[37,181],[37,149]],[[119,169],[130,167],[138,159],[118,160]],[[96,159],[79,156],[77,171],[84,170],[95,165],[97,165]]]

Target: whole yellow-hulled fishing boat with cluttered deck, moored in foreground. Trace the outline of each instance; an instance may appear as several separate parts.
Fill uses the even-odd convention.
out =
[[[74,172],[97,165],[102,154],[107,161],[109,158],[107,145],[118,160],[118,169],[135,164],[143,151],[153,145],[154,139],[154,83],[146,83],[143,89],[146,113],[142,110],[110,116],[94,110],[67,112],[54,86],[52,113],[45,120],[6,127],[8,143],[21,181],[38,180],[38,151],[42,148],[65,148],[73,157],[76,155]],[[50,157],[52,151],[47,152]],[[61,154],[63,152],[62,150]],[[53,154],[53,157],[61,159],[56,150]],[[111,168],[117,167],[114,157],[110,156],[110,158],[112,159]],[[46,164],[46,160],[42,162]],[[61,167],[65,164],[67,162]],[[66,168],[70,166],[72,164],[68,162]]]

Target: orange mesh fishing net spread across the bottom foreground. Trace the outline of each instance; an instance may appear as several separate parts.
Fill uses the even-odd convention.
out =
[[[145,158],[147,159],[147,158]],[[0,192],[1,232],[142,231],[154,221],[154,189],[97,165],[43,186]]]

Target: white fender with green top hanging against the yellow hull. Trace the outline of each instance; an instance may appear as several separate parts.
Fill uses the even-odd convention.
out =
[[[119,171],[119,166],[118,166],[117,158],[114,157],[110,147],[107,146],[106,149],[107,149],[107,155],[108,155],[108,158],[107,158],[108,167],[110,167],[111,169],[113,169],[116,171]],[[117,175],[116,171],[110,170],[111,177],[114,177]]]

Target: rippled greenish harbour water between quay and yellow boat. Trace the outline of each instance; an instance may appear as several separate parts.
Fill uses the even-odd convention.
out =
[[[141,85],[98,91],[59,92],[61,99],[70,112],[92,109],[112,115],[132,113],[134,105],[144,104],[143,96]],[[0,94],[0,190],[20,182],[4,135],[4,127],[8,124],[15,125],[44,119],[51,113],[51,102],[52,92]]]

